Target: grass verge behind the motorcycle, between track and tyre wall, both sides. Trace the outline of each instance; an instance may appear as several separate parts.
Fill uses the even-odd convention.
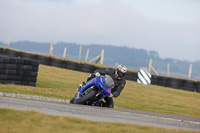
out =
[[[40,65],[37,87],[0,84],[0,91],[71,99],[77,84],[85,81],[88,75]],[[115,108],[200,117],[200,93],[133,81],[127,81],[123,92],[114,102]]]

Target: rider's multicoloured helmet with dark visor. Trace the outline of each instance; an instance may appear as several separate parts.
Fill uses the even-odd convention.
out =
[[[127,68],[125,65],[119,65],[115,70],[115,78],[122,79],[127,73]]]

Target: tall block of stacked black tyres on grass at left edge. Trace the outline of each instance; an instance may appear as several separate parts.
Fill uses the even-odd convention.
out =
[[[0,83],[36,86],[38,61],[0,55]]]

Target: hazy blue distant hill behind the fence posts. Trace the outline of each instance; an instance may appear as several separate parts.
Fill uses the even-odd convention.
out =
[[[0,42],[0,46],[7,47],[7,44]],[[66,58],[78,60],[80,44],[59,42],[53,45],[53,55],[62,57],[64,48],[67,47]],[[10,48],[29,51],[34,53],[49,54],[50,43],[19,41],[11,42]],[[188,62],[177,59],[161,59],[156,51],[136,49],[129,47],[117,47],[111,45],[83,45],[81,60],[85,60],[86,51],[90,49],[88,60],[93,59],[104,49],[104,64],[116,67],[118,64],[125,64],[128,69],[138,70],[141,67],[148,67],[149,59],[152,58],[153,67],[160,75],[166,75],[167,64],[170,64],[170,76],[187,78],[189,65],[193,64],[192,79],[200,80],[200,61]]]

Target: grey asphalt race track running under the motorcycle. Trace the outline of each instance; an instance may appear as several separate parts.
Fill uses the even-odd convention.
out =
[[[0,108],[35,110],[50,115],[78,117],[92,121],[129,123],[163,127],[167,129],[200,131],[200,118],[197,117],[134,110],[109,109],[10,97],[0,97]]]

